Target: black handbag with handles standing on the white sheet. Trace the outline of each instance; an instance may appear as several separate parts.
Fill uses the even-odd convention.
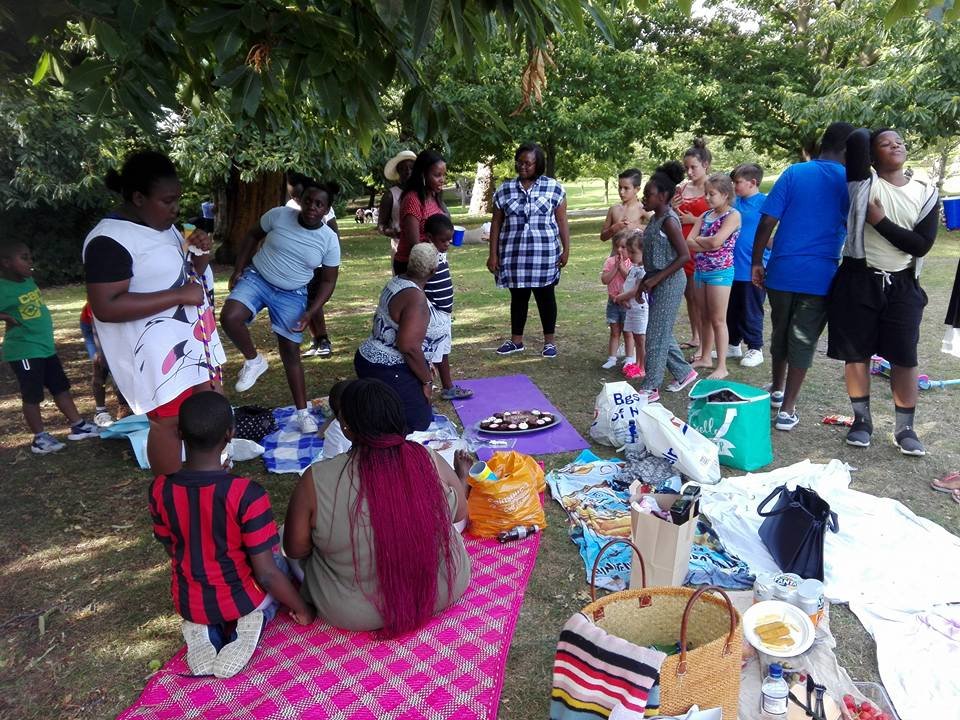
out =
[[[773,509],[764,507],[777,498]],[[815,490],[786,485],[775,488],[757,508],[760,517],[760,539],[783,572],[802,578],[823,580],[823,542],[827,529],[837,532],[837,514]]]

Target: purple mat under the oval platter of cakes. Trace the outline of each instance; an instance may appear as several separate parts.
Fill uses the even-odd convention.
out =
[[[469,400],[454,400],[453,409],[460,416],[465,432],[475,429],[478,421],[503,410],[549,410],[561,422],[549,430],[527,435],[508,435],[517,444],[514,450],[527,455],[550,455],[553,453],[583,450],[590,447],[567,419],[551,403],[540,388],[526,375],[504,375],[501,377],[479,378],[477,380],[459,380],[457,384],[473,390]],[[479,433],[485,439],[497,439],[498,436]],[[501,437],[501,439],[506,439]],[[477,456],[488,460],[496,452],[490,448],[480,448]]]

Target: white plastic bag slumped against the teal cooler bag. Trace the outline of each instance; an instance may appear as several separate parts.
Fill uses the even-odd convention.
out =
[[[646,405],[637,418],[643,443],[697,483],[720,482],[717,446],[660,403]]]

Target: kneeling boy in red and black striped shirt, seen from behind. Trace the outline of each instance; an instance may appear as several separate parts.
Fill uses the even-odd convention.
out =
[[[220,464],[233,435],[230,403],[215,392],[192,395],[180,408],[179,430],[186,461],[150,487],[153,534],[170,556],[187,664],[195,675],[231,677],[247,664],[278,602],[301,625],[315,613],[287,577],[266,490]]]

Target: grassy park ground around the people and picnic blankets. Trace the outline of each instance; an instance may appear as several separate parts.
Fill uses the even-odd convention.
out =
[[[600,222],[598,218],[571,222],[573,251],[558,288],[560,357],[554,361],[533,352],[539,349],[535,311],[528,326],[527,354],[499,358],[492,353],[508,332],[507,293],[494,287],[485,268],[486,246],[454,248],[450,254],[457,287],[455,377],[526,373],[583,435],[601,381],[616,378],[614,371],[599,368],[606,357],[607,330],[598,274],[609,247],[597,241]],[[334,355],[305,361],[313,396],[324,395],[336,380],[352,375],[353,349],[366,336],[376,297],[390,275],[386,241],[373,237],[369,226],[343,226],[343,274],[328,312]],[[934,378],[960,374],[956,360],[939,352],[958,256],[960,234],[944,232],[924,270],[930,305],[920,357],[923,371]],[[223,298],[226,269],[218,269],[217,275],[218,297]],[[44,297],[53,312],[57,345],[74,380],[77,403],[90,417],[88,362],[77,328],[82,288],[51,288]],[[242,399],[236,395],[233,399],[287,404],[288,391],[265,319],[254,325],[254,336],[272,368]],[[683,318],[678,336],[687,337]],[[236,379],[238,360],[238,353],[231,352],[228,386]],[[769,364],[752,370],[733,365],[732,377],[759,385],[767,380],[768,368]],[[791,433],[774,433],[774,466],[804,458],[814,462],[840,458],[856,468],[856,489],[900,500],[957,532],[958,506],[928,488],[932,478],[960,468],[957,393],[930,391],[922,397],[918,430],[929,450],[926,458],[905,458],[892,446],[890,393],[882,386],[874,393],[874,446],[866,451],[851,448],[843,443],[843,429],[819,424],[824,415],[849,412],[842,366],[821,353],[801,399],[800,426]],[[664,402],[685,415],[684,397],[665,393]],[[437,409],[455,418],[448,403],[438,402]],[[64,433],[64,422],[49,402],[44,417],[55,434]],[[9,370],[0,373],[0,421],[4,429],[0,463],[6,468],[0,505],[4,608],[0,686],[5,689],[0,718],[114,717],[136,699],[152,670],[182,644],[169,597],[168,561],[151,537],[146,507],[150,478],[136,469],[125,441],[69,443],[57,455],[32,455]],[[611,453],[600,447],[594,450]],[[570,457],[544,460],[549,469]],[[282,518],[296,478],[267,475],[258,462],[241,464],[238,470],[264,484]],[[500,715],[509,720],[547,715],[557,635],[570,614],[587,601],[581,561],[553,501],[548,502],[548,519],[507,664]],[[869,552],[870,538],[862,540]],[[916,548],[917,553],[925,551]],[[859,622],[845,608],[835,609],[832,620],[841,663],[857,679],[876,680],[874,645]]]

